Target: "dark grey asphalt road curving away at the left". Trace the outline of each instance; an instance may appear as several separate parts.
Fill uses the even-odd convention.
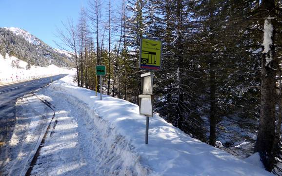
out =
[[[0,86],[0,142],[8,141],[14,130],[16,122],[15,104],[17,98],[22,97],[30,91],[42,88],[53,81],[65,77],[58,75],[48,78],[41,78],[16,84]]]

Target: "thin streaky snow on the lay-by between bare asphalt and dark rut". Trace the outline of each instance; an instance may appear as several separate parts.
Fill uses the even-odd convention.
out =
[[[14,131],[6,150],[1,150],[5,152],[0,154],[3,176],[24,176],[54,114],[32,94],[19,98],[16,104]]]

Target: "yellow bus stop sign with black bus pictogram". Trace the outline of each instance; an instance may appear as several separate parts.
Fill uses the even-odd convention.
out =
[[[145,70],[161,70],[161,40],[141,39],[140,68]]]

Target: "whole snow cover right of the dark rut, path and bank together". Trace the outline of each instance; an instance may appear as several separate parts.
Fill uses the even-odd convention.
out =
[[[105,95],[100,100],[99,94],[74,86],[72,80],[69,75],[40,92],[56,106],[58,124],[40,151],[34,175],[272,175],[190,137],[157,115],[150,118],[146,145],[146,117],[139,115],[139,106]]]

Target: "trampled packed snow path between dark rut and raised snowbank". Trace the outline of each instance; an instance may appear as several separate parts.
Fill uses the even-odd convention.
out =
[[[56,107],[56,120],[40,150],[32,176],[148,175],[139,158],[127,153],[126,148],[130,151],[132,146],[122,136],[113,138],[107,122],[85,108],[84,102],[46,90],[41,93],[48,95],[48,101]],[[136,159],[133,162],[136,166],[127,167],[132,159]]]

